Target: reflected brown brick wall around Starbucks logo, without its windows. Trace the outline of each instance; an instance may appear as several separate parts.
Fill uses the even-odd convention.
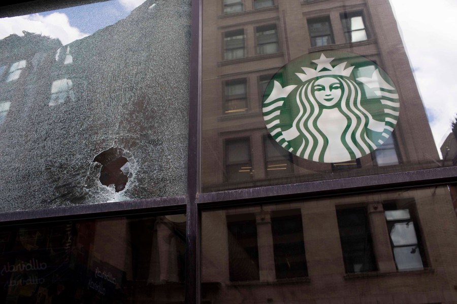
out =
[[[205,192],[287,184],[310,180],[410,171],[436,167],[439,160],[430,126],[403,48],[397,23],[386,0],[338,1],[277,0],[273,7],[254,10],[243,2],[243,12],[223,14],[222,1],[203,1],[202,178]],[[347,43],[341,14],[362,12],[368,40]],[[311,47],[308,19],[328,16],[335,44]],[[256,53],[256,28],[276,24],[279,52]],[[245,57],[225,60],[224,33],[244,29]],[[362,168],[332,172],[330,164],[293,156],[293,173],[268,178],[262,138],[267,134],[262,117],[259,80],[274,74],[292,59],[310,52],[337,49],[360,54],[381,66],[394,81],[401,101],[395,136],[399,165],[377,167],[372,155],[360,159]],[[246,80],[248,110],[226,114],[224,84]],[[226,182],[223,142],[250,138],[252,181]],[[287,161],[287,160],[285,160]]]

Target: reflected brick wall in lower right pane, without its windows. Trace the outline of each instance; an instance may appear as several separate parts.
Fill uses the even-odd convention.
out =
[[[419,241],[426,251],[426,269],[398,272],[392,254],[382,203],[393,201],[412,203],[417,210],[415,224],[420,230]],[[376,272],[346,274],[340,242],[336,209],[365,207],[376,256]],[[274,267],[271,230],[257,227],[260,279],[229,282],[226,244],[228,215],[262,215],[279,210],[299,209],[303,220],[303,238],[308,277],[278,280],[262,276],[262,271]],[[240,302],[455,302],[457,292],[457,217],[452,212],[447,187],[425,188],[356,197],[277,203],[260,207],[231,208],[208,211],[202,217],[202,278],[203,282],[219,282],[215,288],[203,285],[217,303]],[[439,223],[439,224],[438,224]],[[290,240],[284,236],[284,242]],[[225,244],[225,245],[224,245]],[[261,249],[262,248],[262,249]],[[264,260],[260,257],[264,251]],[[268,272],[266,272],[268,273]],[[265,273],[265,274],[266,274]],[[205,287],[208,286],[208,287]],[[216,290],[216,291],[215,291]]]

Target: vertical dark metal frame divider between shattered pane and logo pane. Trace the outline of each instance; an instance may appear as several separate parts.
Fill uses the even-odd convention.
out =
[[[202,58],[202,0],[192,1],[190,38],[190,99],[189,142],[187,157],[186,208],[186,274],[185,302],[200,303],[200,212],[197,196],[200,192],[200,104]]]

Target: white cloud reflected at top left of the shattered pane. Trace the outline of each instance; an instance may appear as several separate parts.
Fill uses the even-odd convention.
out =
[[[10,34],[22,36],[23,30],[58,38],[63,45],[88,36],[77,27],[71,26],[67,15],[62,13],[52,13],[48,16],[32,14],[0,19],[0,39]]]

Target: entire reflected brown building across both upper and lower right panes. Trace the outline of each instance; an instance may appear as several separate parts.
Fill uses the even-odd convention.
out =
[[[388,1],[204,0],[202,15],[203,192],[441,166]],[[290,153],[263,117],[272,77],[285,77],[277,72],[293,59],[326,51],[381,67],[401,104],[392,135],[347,162]],[[356,78],[372,77],[375,65],[366,62],[350,62]],[[457,302],[447,253],[457,250],[456,225],[447,187],[204,211],[204,300]]]

